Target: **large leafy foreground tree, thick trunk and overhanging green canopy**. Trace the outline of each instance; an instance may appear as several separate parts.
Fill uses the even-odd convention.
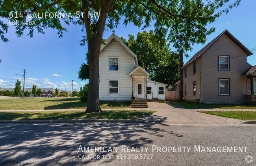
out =
[[[89,53],[86,111],[100,111],[99,53],[104,30],[114,30],[121,20],[124,25],[132,22],[142,29],[153,24],[156,37],[166,37],[176,52],[186,52],[192,50],[193,44],[204,43],[207,35],[215,30],[214,27],[207,28],[207,25],[221,14],[237,7],[239,2],[240,0],[0,0],[0,38],[4,42],[8,41],[5,33],[9,27],[2,18],[16,22],[13,26],[18,37],[23,35],[24,30],[29,31],[30,37],[33,37],[35,30],[44,34],[46,28],[56,29],[59,37],[62,37],[63,32],[67,31],[65,24],[82,26],[82,31],[85,30],[86,33],[82,36],[81,45],[87,43]],[[89,12],[99,15],[93,17]],[[53,13],[54,17],[49,14],[46,16],[45,13]],[[67,13],[68,17],[56,17],[56,13]]]

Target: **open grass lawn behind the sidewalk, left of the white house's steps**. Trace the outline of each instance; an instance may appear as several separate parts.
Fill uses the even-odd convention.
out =
[[[130,102],[101,101],[101,108],[130,108]],[[0,109],[85,109],[79,98],[0,99]]]

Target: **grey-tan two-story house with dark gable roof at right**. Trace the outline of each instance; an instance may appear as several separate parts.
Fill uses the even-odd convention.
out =
[[[198,51],[183,68],[184,100],[202,103],[246,103],[254,100],[253,53],[228,30]],[[179,81],[173,87],[179,86]],[[174,90],[174,89],[173,89]]]

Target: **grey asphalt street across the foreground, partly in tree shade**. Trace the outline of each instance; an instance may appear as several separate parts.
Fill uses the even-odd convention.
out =
[[[253,166],[255,141],[256,125],[0,124],[0,165]],[[195,152],[195,146],[247,148]]]

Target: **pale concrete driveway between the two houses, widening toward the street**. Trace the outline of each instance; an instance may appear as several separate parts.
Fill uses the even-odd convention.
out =
[[[183,109],[166,102],[148,102],[148,109],[157,111],[154,115],[163,118],[165,124],[241,125],[243,122],[243,120],[198,113],[198,111],[213,111],[212,109]]]

